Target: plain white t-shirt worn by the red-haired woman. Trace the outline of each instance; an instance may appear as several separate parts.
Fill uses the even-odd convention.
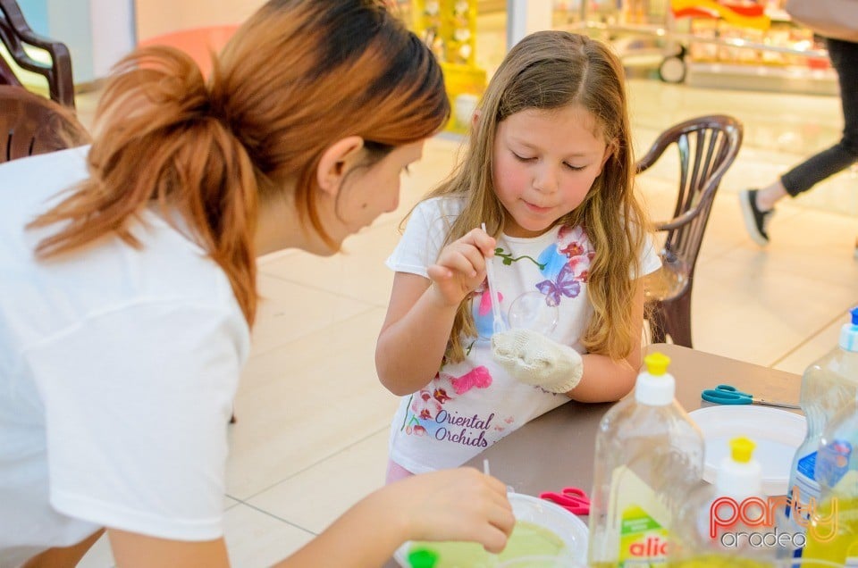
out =
[[[88,148],[0,166],[0,567],[100,527],[223,536],[227,424],[249,331],[230,282],[150,211],[37,261],[24,225]]]

